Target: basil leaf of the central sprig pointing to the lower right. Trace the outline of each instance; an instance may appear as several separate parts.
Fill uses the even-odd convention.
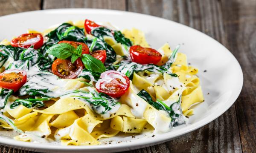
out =
[[[106,71],[106,68],[102,63],[102,61],[90,56],[89,54],[82,54],[81,59],[82,59],[82,62],[84,63],[85,68],[87,68],[87,70],[89,71],[99,72],[99,73]]]

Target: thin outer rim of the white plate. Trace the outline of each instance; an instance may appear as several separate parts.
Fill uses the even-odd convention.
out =
[[[124,13],[124,14],[134,14],[134,15],[142,15],[142,16],[148,16],[148,17],[152,17],[152,18],[156,18],[158,20],[165,20],[165,21],[169,21],[172,22],[173,24],[177,24],[178,26],[183,26],[185,28],[189,28],[189,30],[195,31],[195,32],[199,32],[200,34],[203,34],[204,37],[208,37],[210,38],[212,41],[215,41],[218,43],[218,45],[221,45],[224,50],[226,50],[231,57],[233,57],[235,59],[236,64],[238,65],[239,68],[239,74],[241,75],[240,77],[240,81],[239,81],[239,90],[237,90],[236,92],[236,97],[230,97],[228,101],[232,101],[227,103],[227,107],[221,109],[221,112],[218,113],[218,115],[216,116],[207,116],[204,120],[208,119],[206,122],[202,122],[204,120],[200,120],[197,122],[197,124],[195,124],[194,126],[192,126],[192,128],[188,129],[188,130],[184,130],[183,132],[180,132],[178,134],[174,134],[174,136],[172,137],[162,137],[159,138],[157,136],[154,137],[154,139],[150,138],[148,139],[148,141],[140,141],[140,142],[125,142],[122,144],[110,144],[110,145],[92,145],[92,146],[61,146],[61,145],[53,145],[53,144],[46,144],[46,145],[41,145],[40,143],[32,143],[32,142],[20,142],[17,141],[15,139],[9,139],[9,138],[4,138],[2,136],[0,136],[0,143],[6,146],[12,146],[15,148],[22,148],[25,150],[48,150],[48,151],[120,151],[123,148],[130,148],[128,150],[131,150],[131,148],[141,148],[141,147],[146,147],[146,146],[152,146],[155,144],[160,144],[163,142],[167,142],[169,140],[175,139],[179,136],[182,136],[186,133],[190,133],[194,130],[197,130],[198,128],[203,127],[204,125],[209,124],[209,122],[212,122],[213,120],[217,119],[219,116],[221,116],[223,113],[225,113],[235,102],[236,99],[239,97],[242,87],[243,87],[243,83],[244,83],[244,77],[243,77],[243,71],[241,69],[241,65],[239,64],[238,60],[236,59],[236,57],[224,46],[222,45],[220,42],[218,42],[217,40],[215,40],[214,38],[208,36],[207,34],[204,34],[203,32],[194,29],[192,27],[183,25],[181,23],[177,23],[175,21],[172,20],[168,20],[168,19],[164,19],[161,17],[156,17],[156,16],[152,16],[152,15],[148,15],[148,14],[142,14],[142,13],[136,13],[136,12],[129,12],[129,11],[120,11],[120,10],[112,10],[112,9],[99,9],[99,8],[57,8],[57,9],[44,9],[44,10],[35,10],[35,11],[25,11],[25,12],[20,12],[20,13],[15,13],[15,14],[7,14],[7,15],[3,15],[0,16],[1,18],[5,18],[5,17],[12,17],[15,15],[22,15],[22,14],[29,14],[29,13],[33,13],[33,12],[47,12],[47,11],[106,11],[106,13],[108,12],[119,12],[119,13]],[[230,100],[231,99],[231,100]],[[47,148],[46,148],[47,147]],[[115,149],[115,150],[111,150],[111,149]]]

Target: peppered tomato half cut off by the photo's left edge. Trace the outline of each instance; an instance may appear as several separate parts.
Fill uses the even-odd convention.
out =
[[[0,74],[0,87],[19,90],[26,83],[26,71],[23,70],[6,70]]]

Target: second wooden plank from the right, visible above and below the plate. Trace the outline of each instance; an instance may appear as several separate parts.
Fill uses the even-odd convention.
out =
[[[185,24],[227,43],[218,0],[128,0],[128,11],[151,14]],[[166,149],[168,150],[166,151]],[[164,144],[131,152],[241,152],[234,105],[218,119],[192,133]]]

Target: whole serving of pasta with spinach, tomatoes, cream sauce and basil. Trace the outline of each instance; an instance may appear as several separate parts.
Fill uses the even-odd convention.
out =
[[[3,40],[0,129],[24,142],[98,145],[186,125],[204,96],[179,48],[156,50],[136,28],[91,20]]]

